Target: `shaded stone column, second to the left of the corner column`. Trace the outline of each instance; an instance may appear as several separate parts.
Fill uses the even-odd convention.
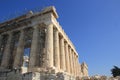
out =
[[[21,30],[13,68],[21,67],[23,60],[23,53],[24,53],[24,30]]]

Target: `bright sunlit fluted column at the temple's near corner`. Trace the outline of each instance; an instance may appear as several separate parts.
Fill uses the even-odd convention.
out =
[[[45,41],[45,49],[46,49],[46,67],[53,67],[53,24],[49,24],[46,26],[46,41]]]

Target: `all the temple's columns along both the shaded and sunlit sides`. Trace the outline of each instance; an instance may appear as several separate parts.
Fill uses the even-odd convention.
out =
[[[37,54],[38,54],[38,37],[39,37],[38,26],[34,26],[29,68],[36,67]],[[20,67],[24,52],[24,30],[21,30],[16,56],[13,67]],[[1,37],[0,37],[1,40]],[[7,44],[4,50],[1,67],[6,68],[9,65],[10,60],[10,45],[12,40],[12,33],[9,34]],[[1,41],[0,41],[1,42]],[[60,35],[60,31],[54,28],[53,24],[46,26],[46,39],[45,39],[45,67],[56,67],[58,70],[66,71],[72,75],[78,75],[78,56],[75,54],[69,42]]]

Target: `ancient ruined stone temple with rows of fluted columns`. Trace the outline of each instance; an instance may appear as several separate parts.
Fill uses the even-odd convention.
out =
[[[24,74],[19,80],[79,80],[88,76],[87,64],[79,63],[79,55],[57,18],[55,7],[50,6],[0,23],[0,75],[9,74],[0,80],[10,80],[14,70],[19,77]],[[36,75],[27,79],[33,73]]]

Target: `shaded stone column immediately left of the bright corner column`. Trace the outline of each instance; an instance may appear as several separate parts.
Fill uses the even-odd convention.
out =
[[[31,52],[30,52],[30,61],[29,68],[34,68],[37,66],[37,54],[38,54],[38,37],[39,37],[39,29],[38,26],[33,27],[33,37],[31,43]]]

